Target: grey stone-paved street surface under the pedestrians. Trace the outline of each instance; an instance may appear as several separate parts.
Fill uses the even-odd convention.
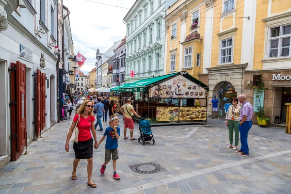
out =
[[[99,173],[104,141],[93,153],[92,179],[97,184],[93,189],[86,184],[86,160],[79,163],[77,180],[71,180],[75,154],[72,143],[70,152],[65,152],[65,131],[70,121],[63,121],[32,142],[28,154],[0,171],[0,194],[291,193],[291,136],[285,135],[284,129],[254,126],[249,133],[250,157],[241,157],[226,149],[229,140],[223,122],[154,127],[155,145],[147,142],[143,146],[121,136],[117,161],[120,180],[112,178],[112,162],[104,175]],[[107,126],[108,122],[104,123],[103,127]],[[122,133],[123,124],[120,128]],[[138,135],[136,125],[134,137]],[[97,131],[98,140],[101,136]],[[158,162],[167,171],[135,176],[129,165],[142,162]]]

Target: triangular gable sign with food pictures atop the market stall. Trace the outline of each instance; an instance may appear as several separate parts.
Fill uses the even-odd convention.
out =
[[[149,97],[205,98],[207,91],[193,81],[178,75],[149,89]]]

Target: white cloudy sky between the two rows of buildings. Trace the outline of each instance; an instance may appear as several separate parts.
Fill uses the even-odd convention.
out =
[[[70,10],[70,24],[74,43],[74,52],[87,58],[81,71],[87,74],[95,67],[96,50],[105,52],[115,41],[124,38],[126,25],[122,22],[129,11],[118,7],[103,5],[106,3],[130,8],[135,0],[64,0]]]

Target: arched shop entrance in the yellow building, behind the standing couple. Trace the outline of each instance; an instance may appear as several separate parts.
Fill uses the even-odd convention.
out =
[[[233,97],[237,97],[237,92],[235,91],[234,86],[228,81],[222,81],[216,85],[217,93],[216,97],[219,100],[219,116],[226,115],[225,104],[230,103]],[[215,88],[216,88],[215,87]],[[215,93],[214,93],[215,94]]]

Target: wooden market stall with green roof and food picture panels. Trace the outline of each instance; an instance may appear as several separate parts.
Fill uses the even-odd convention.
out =
[[[187,72],[147,78],[119,87],[134,93],[136,112],[153,123],[207,120],[209,87]]]

